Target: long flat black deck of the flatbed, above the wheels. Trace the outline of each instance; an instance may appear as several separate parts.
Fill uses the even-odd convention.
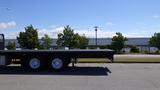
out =
[[[71,49],[71,50],[0,50],[0,55],[23,57],[29,55],[58,56],[67,58],[109,58],[113,59],[113,51],[109,49]]]

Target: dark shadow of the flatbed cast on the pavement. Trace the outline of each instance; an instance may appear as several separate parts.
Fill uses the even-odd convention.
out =
[[[60,72],[50,70],[28,71],[19,66],[0,67],[0,75],[71,75],[71,76],[108,76],[112,73],[107,67],[68,67]]]

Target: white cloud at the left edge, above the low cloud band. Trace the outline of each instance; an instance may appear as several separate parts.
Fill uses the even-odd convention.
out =
[[[13,28],[16,26],[15,21],[11,21],[11,22],[0,22],[0,30],[3,29],[8,29],[8,28]]]

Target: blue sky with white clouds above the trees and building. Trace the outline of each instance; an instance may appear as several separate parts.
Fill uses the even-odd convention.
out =
[[[15,39],[33,25],[57,38],[66,25],[88,38],[151,37],[160,32],[160,0],[0,0],[0,33]]]

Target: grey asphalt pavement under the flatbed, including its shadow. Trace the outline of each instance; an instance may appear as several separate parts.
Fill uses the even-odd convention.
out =
[[[63,72],[0,67],[0,90],[160,90],[160,64],[79,63]]]

